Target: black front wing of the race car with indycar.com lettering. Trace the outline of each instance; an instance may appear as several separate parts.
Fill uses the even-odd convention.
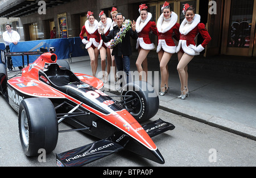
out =
[[[175,129],[174,125],[162,119],[146,123],[142,127],[150,137]],[[122,150],[130,139],[126,134],[115,133],[110,138],[56,154],[56,163],[60,167],[82,166]]]

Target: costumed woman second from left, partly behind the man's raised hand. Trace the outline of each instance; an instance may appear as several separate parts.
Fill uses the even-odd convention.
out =
[[[98,23],[98,27],[104,28],[104,34],[108,35],[110,31],[110,26],[112,24],[112,19],[107,18],[104,11],[101,11],[99,14],[101,21]],[[101,38],[101,36],[100,36]],[[107,47],[107,43],[104,43],[103,40],[100,40],[100,44],[98,45],[98,49],[100,50],[101,55],[101,71],[102,71],[102,81],[104,83],[109,80],[110,67],[112,63],[110,48]],[[106,73],[106,55],[108,59],[107,73]]]

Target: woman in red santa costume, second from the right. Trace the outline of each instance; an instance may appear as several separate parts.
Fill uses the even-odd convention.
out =
[[[158,52],[161,72],[160,96],[164,96],[164,94],[168,93],[170,90],[168,86],[168,62],[172,54],[176,53],[176,45],[172,39],[172,34],[174,34],[174,39],[177,41],[179,41],[180,35],[177,14],[171,11],[168,2],[164,2],[162,12],[156,24],[158,29],[158,47],[156,52]]]

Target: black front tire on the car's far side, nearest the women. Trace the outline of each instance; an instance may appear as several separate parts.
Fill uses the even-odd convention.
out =
[[[123,106],[138,122],[144,122],[154,117],[159,109],[159,98],[152,85],[146,81],[134,81],[126,84],[121,96],[133,96],[123,101]],[[121,97],[122,100],[128,97]]]

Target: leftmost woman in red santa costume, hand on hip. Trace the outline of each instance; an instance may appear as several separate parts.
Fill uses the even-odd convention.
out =
[[[87,19],[85,25],[82,26],[82,31],[80,33],[80,38],[82,43],[86,44],[90,56],[90,66],[92,67],[93,76],[96,77],[97,67],[98,67],[98,45],[100,43],[100,35],[98,34],[98,21],[94,18],[93,13],[88,11]],[[88,40],[84,38],[86,33]]]

